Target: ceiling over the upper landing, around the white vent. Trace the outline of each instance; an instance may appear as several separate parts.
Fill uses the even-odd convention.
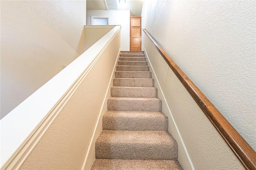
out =
[[[126,4],[119,5],[119,10],[130,10],[130,16],[141,16],[143,0],[126,0]],[[86,10],[107,10],[104,0],[86,0]]]

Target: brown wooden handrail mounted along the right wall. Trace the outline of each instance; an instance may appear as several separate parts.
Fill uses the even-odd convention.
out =
[[[222,136],[224,141],[234,152],[238,160],[242,163],[246,170],[256,170],[256,152],[244,140],[244,138],[234,129],[234,127],[227,121],[227,119],[218,111],[218,109],[204,96],[198,87],[186,76],[186,74],[178,67],[176,63],[169,57],[169,55],[156,43],[151,35],[143,29],[146,36],[150,39],[158,52],[162,55],[166,63],[170,66],[172,71],[180,79],[180,82],[188,90],[190,95],[194,98],[198,106],[202,109],[204,114],[208,117],[212,125],[216,128],[218,133]]]

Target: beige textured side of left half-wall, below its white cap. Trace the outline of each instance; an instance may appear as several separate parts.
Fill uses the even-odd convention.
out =
[[[82,168],[119,49],[120,31],[28,156],[22,170]]]

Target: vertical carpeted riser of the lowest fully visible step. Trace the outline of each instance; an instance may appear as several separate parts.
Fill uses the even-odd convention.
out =
[[[178,145],[168,144],[120,144],[97,143],[95,146],[96,158],[101,159],[151,159],[176,160],[178,159]]]

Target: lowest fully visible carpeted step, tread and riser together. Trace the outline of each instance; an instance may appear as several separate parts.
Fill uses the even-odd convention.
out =
[[[102,131],[96,158],[177,160],[178,144],[166,131]]]

